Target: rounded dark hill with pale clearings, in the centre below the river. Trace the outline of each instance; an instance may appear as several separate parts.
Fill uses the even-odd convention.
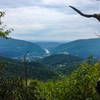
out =
[[[41,59],[39,62],[47,65],[55,72],[62,74],[70,74],[77,69],[78,65],[84,59],[70,54],[55,54]]]

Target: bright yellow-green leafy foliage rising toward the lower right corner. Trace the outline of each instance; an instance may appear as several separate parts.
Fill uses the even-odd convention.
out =
[[[81,64],[69,77],[56,82],[40,83],[40,98],[46,100],[100,100],[96,82],[100,77],[100,64]]]

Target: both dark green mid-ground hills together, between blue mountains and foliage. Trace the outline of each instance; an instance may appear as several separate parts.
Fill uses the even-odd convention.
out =
[[[25,78],[25,67],[27,77],[39,80],[57,79],[60,74],[69,75],[83,61],[82,58],[72,55],[51,55],[37,62],[24,62],[10,58],[0,57],[0,64],[4,66],[2,75],[4,77]]]

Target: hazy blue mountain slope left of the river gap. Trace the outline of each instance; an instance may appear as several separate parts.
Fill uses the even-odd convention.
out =
[[[0,56],[19,57],[24,56],[29,51],[33,56],[43,56],[44,49],[35,43],[17,39],[0,38]]]

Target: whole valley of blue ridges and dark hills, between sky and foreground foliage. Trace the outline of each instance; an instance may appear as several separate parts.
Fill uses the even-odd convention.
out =
[[[70,75],[91,54],[99,57],[99,42],[98,38],[68,43],[0,39],[0,63],[7,63],[3,76],[24,78],[24,55],[28,50],[28,78],[48,80],[57,79],[62,74]]]

